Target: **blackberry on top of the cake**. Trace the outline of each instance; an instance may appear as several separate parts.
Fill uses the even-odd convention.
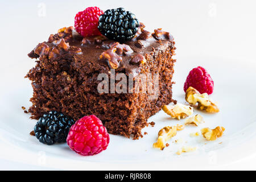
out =
[[[98,30],[101,34],[120,43],[133,39],[139,27],[135,15],[122,7],[106,10],[98,21]]]

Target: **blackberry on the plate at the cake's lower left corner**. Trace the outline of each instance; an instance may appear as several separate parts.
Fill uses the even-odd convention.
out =
[[[34,127],[35,136],[39,142],[54,144],[66,142],[69,130],[75,123],[72,118],[57,111],[49,111],[41,117]]]

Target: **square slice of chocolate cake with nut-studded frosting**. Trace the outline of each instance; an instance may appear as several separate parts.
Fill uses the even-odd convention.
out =
[[[82,38],[73,27],[61,28],[50,35],[47,42],[39,43],[28,56],[36,65],[27,78],[34,90],[28,110],[32,119],[56,110],[73,119],[94,114],[104,123],[108,132],[134,139],[142,137],[141,129],[147,119],[172,100],[172,75],[175,60],[175,42],[168,32],[161,29],[153,34],[140,25],[137,35],[130,42],[120,44],[105,36]],[[114,71],[114,73],[113,73]],[[104,73],[117,77],[122,73],[134,81],[127,83],[127,93],[113,93],[113,85],[99,92],[102,83],[98,76]],[[141,75],[158,75],[158,89],[154,92],[135,92],[135,80]],[[114,91],[118,81],[114,82]],[[121,86],[121,89],[125,86]],[[111,90],[112,89],[112,90]],[[155,98],[150,98],[152,96]]]

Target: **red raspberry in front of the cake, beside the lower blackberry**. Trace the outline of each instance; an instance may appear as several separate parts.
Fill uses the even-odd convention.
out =
[[[78,154],[95,155],[106,150],[109,134],[95,115],[85,116],[71,126],[67,143]]]

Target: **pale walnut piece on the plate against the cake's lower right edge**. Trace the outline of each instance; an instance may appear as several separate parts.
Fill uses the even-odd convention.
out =
[[[162,109],[165,113],[171,115],[172,118],[179,120],[193,114],[193,107],[179,103],[174,106],[164,105]]]

